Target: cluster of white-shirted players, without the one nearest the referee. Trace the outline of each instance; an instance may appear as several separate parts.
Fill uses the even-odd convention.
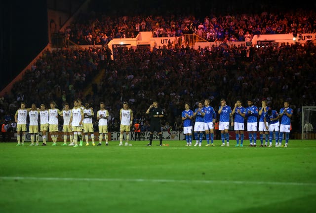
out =
[[[39,145],[39,123],[38,119],[40,116],[40,132],[42,133],[43,143],[46,145],[46,133],[49,130],[53,146],[57,145],[58,137],[58,116],[62,116],[64,120],[63,132],[64,132],[64,143],[63,146],[67,145],[67,135],[70,138],[70,146],[78,147],[83,144],[84,133],[86,146],[89,145],[89,136],[91,137],[92,145],[95,145],[94,130],[92,118],[94,117],[93,109],[89,107],[89,104],[85,106],[81,105],[81,100],[77,99],[74,101],[74,107],[69,108],[69,104],[65,104],[63,110],[56,108],[55,102],[50,103],[50,108],[46,109],[45,105],[40,105],[37,108],[35,104],[32,104],[31,108],[25,108],[25,103],[21,103],[21,107],[15,113],[15,122],[17,123],[17,145],[24,145],[27,115],[29,114],[29,133],[31,134],[31,146]],[[105,109],[105,104],[100,103],[100,110],[97,111],[97,120],[99,121],[99,143],[102,144],[103,136],[105,138],[106,145],[108,145],[108,127],[107,119],[109,117],[109,111]],[[21,137],[22,133],[22,137]],[[35,142],[35,143],[34,143]]]

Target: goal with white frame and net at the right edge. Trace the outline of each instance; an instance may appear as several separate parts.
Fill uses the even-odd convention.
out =
[[[316,106],[302,107],[302,140],[315,139]]]

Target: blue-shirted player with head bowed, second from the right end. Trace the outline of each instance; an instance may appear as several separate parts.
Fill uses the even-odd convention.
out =
[[[279,115],[276,110],[273,109],[268,109],[265,117],[264,117],[264,122],[266,125],[266,128],[269,130],[269,146],[272,147],[272,139],[273,139],[273,131],[275,131],[276,134],[276,147],[278,147],[278,126],[279,126]],[[268,122],[268,125],[267,125]]]

